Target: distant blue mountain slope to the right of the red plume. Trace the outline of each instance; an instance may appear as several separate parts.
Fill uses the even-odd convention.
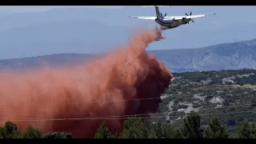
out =
[[[256,68],[256,39],[198,49],[154,50],[173,72]]]

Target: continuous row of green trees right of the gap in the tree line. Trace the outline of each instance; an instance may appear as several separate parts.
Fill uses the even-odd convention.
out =
[[[151,123],[134,117],[123,122],[119,134],[112,134],[103,122],[94,138],[256,138],[256,123],[244,120],[236,127],[235,134],[229,135],[218,118],[212,118],[208,126],[202,127],[200,116],[194,112],[188,114],[178,128],[166,122]]]

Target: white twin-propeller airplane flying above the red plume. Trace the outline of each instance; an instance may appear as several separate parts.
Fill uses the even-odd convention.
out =
[[[147,6],[143,6],[147,7]],[[182,26],[185,24],[189,24],[190,21],[194,22],[192,18],[202,18],[206,15],[213,15],[213,14],[197,14],[192,15],[192,12],[190,14],[186,14],[185,16],[162,16],[162,13],[160,13],[159,6],[154,6],[156,11],[156,17],[146,17],[146,16],[129,16],[131,18],[139,18],[139,19],[148,19],[148,20],[154,20],[157,22],[162,30],[166,29],[173,29],[178,26]]]

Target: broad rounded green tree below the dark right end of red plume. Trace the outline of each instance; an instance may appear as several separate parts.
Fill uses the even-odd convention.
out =
[[[123,122],[121,138],[149,138],[149,129],[141,118],[130,117]]]

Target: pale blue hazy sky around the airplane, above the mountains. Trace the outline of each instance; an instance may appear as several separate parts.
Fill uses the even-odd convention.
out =
[[[72,13],[75,15],[72,15],[70,10],[75,11],[75,13]],[[90,13],[85,13],[84,10],[90,10]],[[167,16],[189,14],[190,11],[192,11],[192,14],[215,13],[216,15],[194,18],[194,23],[190,22],[188,25],[164,31],[162,35],[166,39],[151,44],[148,50],[200,48],[223,42],[236,42],[256,38],[256,19],[254,18],[256,6],[168,6],[160,7],[160,11],[162,14],[167,14]],[[1,38],[2,42],[11,42],[10,45],[7,43],[0,46],[0,51],[2,51],[0,59],[71,52],[83,54],[101,53],[110,50],[110,47],[124,45],[134,30],[144,26],[158,26],[154,21],[130,18],[129,15],[155,16],[155,11],[154,7],[142,6],[0,6],[0,42]],[[90,45],[85,43],[79,45],[78,39],[80,38],[74,38],[78,43],[72,49],[64,49],[61,43],[64,45],[66,39],[56,36],[56,39],[49,37],[51,38],[50,40],[47,40],[47,38],[45,41],[40,40],[46,46],[53,45],[52,43],[55,44],[54,48],[44,49],[40,42],[26,35],[26,32],[30,34],[26,30],[32,30],[32,28],[33,30],[43,30],[47,29],[44,26],[52,26],[45,25],[45,23],[58,22],[59,25],[62,25],[64,22],[72,23],[72,21],[76,21],[78,23],[82,22],[82,20],[95,22],[95,25],[101,26],[98,29],[85,24],[82,28],[85,30],[94,29],[95,34],[101,34],[97,41],[95,41],[96,37],[91,36],[94,34],[82,35],[86,38],[87,43],[91,42]],[[32,28],[30,29],[30,27]],[[117,27],[117,29],[110,37],[108,30],[114,27]],[[22,38],[30,38],[30,41],[19,44],[20,38],[16,37],[16,35],[20,33]],[[52,35],[50,31],[47,34]],[[34,37],[37,37],[37,35]],[[49,43],[47,43],[48,41]],[[82,38],[81,41],[85,42]],[[59,43],[56,44],[57,42]],[[14,43],[17,45],[14,45]],[[83,49],[81,46],[98,48]]]

